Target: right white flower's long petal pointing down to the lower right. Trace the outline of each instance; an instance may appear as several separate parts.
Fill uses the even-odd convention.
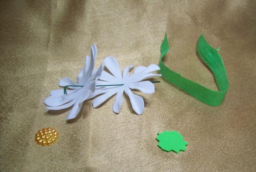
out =
[[[136,94],[132,93],[131,90],[126,87],[125,94],[129,96],[132,109],[139,115],[143,113],[144,110],[144,101],[142,97],[137,96]]]

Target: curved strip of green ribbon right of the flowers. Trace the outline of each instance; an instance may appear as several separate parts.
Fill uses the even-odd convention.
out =
[[[200,35],[198,39],[197,51],[206,65],[212,70],[212,73],[215,77],[219,91],[214,91],[184,78],[180,74],[164,65],[162,60],[169,49],[170,48],[167,35],[165,35],[165,38],[161,44],[161,57],[159,62],[160,73],[162,76],[167,81],[184,90],[186,93],[194,96],[201,102],[210,106],[219,106],[227,93],[229,84],[223,61],[218,52],[205,41],[203,35]]]

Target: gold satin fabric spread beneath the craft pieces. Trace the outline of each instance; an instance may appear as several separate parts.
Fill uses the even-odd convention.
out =
[[[62,77],[76,80],[93,43],[96,67],[109,55],[122,69],[148,66],[158,64],[165,33],[166,64],[215,90],[195,48],[199,34],[221,46],[230,82],[221,106],[159,78],[154,94],[136,92],[141,116],[127,96],[119,114],[113,97],[96,109],[84,102],[70,123],[69,110],[47,113],[44,99]],[[256,1],[1,1],[0,34],[0,171],[256,171]],[[34,141],[43,127],[60,133],[50,147]],[[187,151],[157,147],[164,130],[181,133]]]

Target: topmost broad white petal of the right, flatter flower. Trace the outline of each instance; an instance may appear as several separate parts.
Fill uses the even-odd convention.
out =
[[[118,79],[122,79],[122,75],[120,72],[120,67],[118,62],[114,57],[108,56],[104,59],[104,63],[106,68]]]

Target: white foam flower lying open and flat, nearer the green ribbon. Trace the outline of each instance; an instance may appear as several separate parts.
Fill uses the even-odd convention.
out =
[[[145,79],[161,76],[160,74],[151,73],[153,71],[160,70],[157,65],[149,65],[148,67],[139,66],[135,68],[134,73],[129,76],[129,71],[134,67],[133,65],[124,68],[123,74],[120,72],[118,62],[113,57],[106,57],[104,60],[105,67],[113,74],[102,71],[100,80],[96,81],[96,85],[119,85],[119,86],[107,86],[97,87],[93,96],[102,94],[93,100],[93,107],[96,108],[108,98],[116,94],[116,99],[113,103],[112,110],[115,113],[119,113],[122,102],[123,92],[129,97],[131,106],[137,114],[142,114],[144,110],[144,101],[141,96],[132,93],[131,89],[140,90],[146,94],[152,94],[155,91],[154,84],[150,81],[143,81]],[[123,85],[120,85],[123,84]]]

